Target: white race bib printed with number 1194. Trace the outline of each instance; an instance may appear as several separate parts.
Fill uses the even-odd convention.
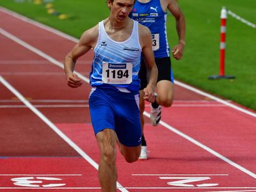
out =
[[[102,81],[108,84],[131,84],[132,63],[102,62]]]

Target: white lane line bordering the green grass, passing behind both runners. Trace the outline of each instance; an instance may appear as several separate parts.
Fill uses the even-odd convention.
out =
[[[12,15],[13,17],[23,20],[24,22],[28,22],[30,24],[33,24],[37,26],[38,28],[42,28],[46,31],[50,31],[51,33],[54,33],[58,36],[61,36],[62,38],[65,38],[67,40],[71,40],[72,42],[78,42],[79,40],[77,38],[74,38],[73,36],[67,35],[61,31],[58,31],[56,29],[50,28],[49,26],[46,26],[44,24],[41,24],[40,22],[36,22],[35,20],[28,19],[27,17],[24,17],[23,15],[20,15],[19,13],[12,12],[11,10],[7,10],[6,8],[0,8],[1,11],[4,13],[8,13],[9,15]],[[198,93],[199,95],[204,95],[205,97],[209,97],[212,100],[216,100],[222,104],[225,104],[229,106],[230,108],[236,109],[238,111],[241,111],[242,113],[246,113],[247,115],[256,117],[256,113],[253,113],[252,111],[248,111],[246,109],[240,108],[239,106],[236,106],[234,104],[231,104],[223,99],[220,99],[218,97],[215,97],[213,95],[210,95],[209,93],[202,92],[201,90],[198,90],[196,88],[193,88],[192,86],[189,86],[188,84],[182,83],[180,81],[175,80],[175,84],[186,88],[188,90],[191,90],[192,92]]]

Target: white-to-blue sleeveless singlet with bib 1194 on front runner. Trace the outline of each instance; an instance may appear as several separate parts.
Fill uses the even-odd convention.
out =
[[[90,84],[121,92],[136,92],[140,88],[141,46],[138,22],[133,21],[131,36],[124,42],[112,40],[99,22],[99,38],[95,46]]]

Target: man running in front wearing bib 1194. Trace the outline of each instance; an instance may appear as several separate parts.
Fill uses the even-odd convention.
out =
[[[116,141],[127,162],[137,161],[140,156],[141,126],[136,96],[140,88],[140,52],[145,57],[149,72],[148,85],[144,89],[144,99],[149,102],[155,100],[157,67],[149,29],[128,17],[135,0],[108,0],[107,3],[109,17],[83,33],[65,57],[64,67],[68,86],[82,86],[81,79],[74,73],[76,60],[94,49],[90,111],[100,148],[99,180],[102,191],[116,191]],[[100,115],[95,115],[98,109]],[[129,118],[131,111],[135,113],[134,120]],[[104,122],[103,127],[100,127],[100,121]],[[129,137],[125,137],[127,127],[134,130],[134,133],[129,132]]]

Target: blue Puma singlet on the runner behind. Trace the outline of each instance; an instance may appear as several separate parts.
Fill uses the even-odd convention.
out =
[[[155,58],[170,57],[166,34],[167,13],[164,13],[160,0],[151,0],[148,3],[137,0],[129,17],[150,29]]]

